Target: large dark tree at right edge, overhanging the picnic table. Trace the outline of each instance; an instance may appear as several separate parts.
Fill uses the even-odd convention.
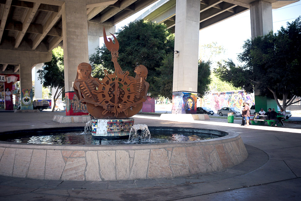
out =
[[[283,108],[300,101],[301,96],[301,16],[277,33],[270,32],[243,45],[238,59],[245,64],[236,66],[231,60],[219,63],[215,74],[223,81],[246,92],[253,92],[254,85],[260,95],[271,96]],[[279,104],[283,100],[283,105]]]

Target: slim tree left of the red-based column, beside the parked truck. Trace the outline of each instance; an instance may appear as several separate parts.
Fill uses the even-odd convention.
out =
[[[64,54],[61,47],[52,50],[52,60],[44,63],[42,70],[38,70],[41,84],[43,87],[57,88],[53,95],[54,103],[52,112],[55,109],[55,102],[63,93],[65,88],[64,83]]]

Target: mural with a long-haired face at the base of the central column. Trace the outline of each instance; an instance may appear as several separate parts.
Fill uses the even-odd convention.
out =
[[[174,92],[172,94],[173,114],[196,114],[197,94],[189,92]]]

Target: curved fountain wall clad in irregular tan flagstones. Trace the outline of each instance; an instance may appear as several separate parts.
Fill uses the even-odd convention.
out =
[[[240,135],[172,144],[42,145],[0,141],[0,175],[51,180],[127,180],[219,171],[248,154]]]

